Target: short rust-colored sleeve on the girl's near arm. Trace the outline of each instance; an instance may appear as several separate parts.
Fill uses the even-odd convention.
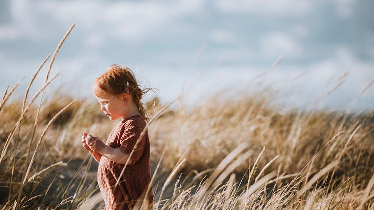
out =
[[[132,164],[134,164],[136,161],[138,161],[143,153],[143,147],[144,147],[144,141],[145,141],[145,135],[141,140],[139,140],[139,143],[135,146],[136,141],[139,139],[140,134],[142,132],[142,129],[130,126],[127,129],[125,129],[121,139],[120,139],[120,145],[119,149],[126,153],[130,154],[132,150],[134,149],[134,153],[131,156]]]

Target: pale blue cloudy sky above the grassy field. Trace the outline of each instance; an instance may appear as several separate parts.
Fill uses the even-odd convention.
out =
[[[343,82],[318,108],[346,109],[357,99],[354,110],[371,109],[374,85],[357,95],[374,79],[373,8],[370,0],[3,0],[0,91],[25,77],[15,92],[23,96],[75,23],[47,94],[95,99],[95,78],[121,64],[143,86],[158,88],[163,103],[183,95],[194,105],[224,88],[256,91],[260,80],[279,91],[279,101],[305,108]],[[32,94],[44,84],[48,64]]]

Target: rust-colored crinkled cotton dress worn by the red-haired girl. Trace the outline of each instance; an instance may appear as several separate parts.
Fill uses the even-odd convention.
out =
[[[140,115],[128,117],[112,129],[106,145],[120,148],[122,152],[130,154],[145,125],[146,122]],[[131,209],[137,200],[144,199],[148,184],[150,184],[150,190],[146,199],[152,205],[148,131],[138,143],[131,160],[132,165],[127,165],[122,176],[119,177],[124,165],[104,156],[101,157],[97,171],[97,182],[106,209]],[[119,184],[113,189],[118,178],[120,178]]]

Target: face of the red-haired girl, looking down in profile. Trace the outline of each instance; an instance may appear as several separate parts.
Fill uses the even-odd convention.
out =
[[[109,119],[117,120],[126,115],[127,106],[122,97],[114,95],[110,98],[99,98],[97,96],[96,98],[101,105],[100,110],[103,111]]]

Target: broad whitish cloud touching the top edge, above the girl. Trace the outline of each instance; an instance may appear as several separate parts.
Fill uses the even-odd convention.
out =
[[[178,2],[114,2],[100,1],[48,1],[39,3],[36,10],[50,14],[65,24],[77,23],[83,33],[105,32],[108,38],[139,41],[162,33],[160,26],[171,24],[178,18],[197,12],[201,1]]]

